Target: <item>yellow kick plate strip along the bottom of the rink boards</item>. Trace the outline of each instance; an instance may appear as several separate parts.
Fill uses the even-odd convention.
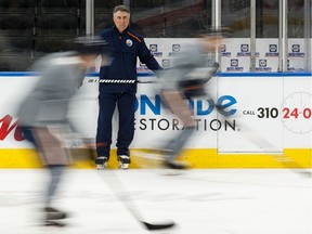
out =
[[[131,150],[132,162],[130,169],[148,168],[139,158],[135,160],[135,152]],[[146,150],[145,150],[146,151]],[[81,156],[82,155],[82,156]],[[181,156],[194,169],[283,169],[283,168],[311,168],[311,148],[285,148],[283,155],[271,154],[218,154],[214,148],[185,150]],[[281,162],[281,161],[282,162]],[[31,148],[2,148],[0,150],[0,168],[41,168],[42,165],[36,152]],[[89,156],[75,153],[73,168],[94,169],[95,165]],[[112,150],[108,168],[118,168],[116,150]],[[150,168],[153,168],[150,167]]]

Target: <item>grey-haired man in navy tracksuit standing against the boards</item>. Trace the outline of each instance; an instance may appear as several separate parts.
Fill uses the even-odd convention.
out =
[[[95,159],[98,169],[106,168],[109,160],[112,119],[116,105],[119,114],[117,159],[120,169],[128,169],[130,165],[129,145],[134,135],[136,83],[120,83],[120,81],[136,80],[136,57],[154,72],[161,69],[147,49],[144,38],[129,27],[129,9],[125,5],[115,6],[113,21],[115,26],[100,32],[100,36],[112,47],[113,62],[108,66],[102,66],[100,70],[100,79],[110,80],[110,82],[100,82],[99,86],[100,112],[96,133],[98,158]]]

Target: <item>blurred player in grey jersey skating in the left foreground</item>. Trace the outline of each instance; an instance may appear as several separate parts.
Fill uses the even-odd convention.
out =
[[[44,195],[44,225],[61,225],[66,213],[55,209],[53,197],[65,168],[70,165],[69,152],[64,147],[62,131],[68,129],[67,112],[70,99],[82,86],[84,73],[108,44],[98,37],[67,40],[66,52],[43,56],[31,70],[39,72],[39,81],[26,96],[17,112],[23,135],[31,142],[49,170],[50,181]],[[107,49],[108,51],[108,49]],[[73,130],[73,129],[72,129]]]

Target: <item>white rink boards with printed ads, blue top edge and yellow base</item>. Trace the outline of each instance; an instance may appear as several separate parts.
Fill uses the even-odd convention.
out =
[[[89,74],[86,78],[96,78]],[[16,109],[38,78],[27,73],[0,76],[0,168],[41,167],[38,156],[21,135]],[[157,81],[148,73],[140,80]],[[221,73],[207,84],[208,98],[188,101],[196,134],[182,158],[194,168],[311,168],[312,79],[308,73]],[[83,138],[94,139],[98,83],[84,83],[70,107],[70,119]],[[216,109],[221,105],[223,112]],[[183,130],[161,103],[158,83],[139,83],[135,103],[133,158],[140,148],[157,148]],[[112,167],[116,167],[114,116]],[[73,138],[72,138],[73,139]],[[68,146],[76,144],[68,142]],[[77,159],[77,158],[76,158]],[[280,160],[289,161],[281,164]],[[289,160],[291,159],[291,160]],[[294,160],[294,162],[292,162]],[[92,168],[79,157],[75,167]],[[142,166],[142,165],[141,165]],[[133,160],[132,168],[140,167]]]

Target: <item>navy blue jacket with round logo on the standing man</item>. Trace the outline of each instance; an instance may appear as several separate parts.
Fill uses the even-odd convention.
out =
[[[120,34],[116,26],[100,32],[100,36],[110,44],[113,62],[101,67],[100,79],[136,80],[136,57],[150,69],[162,69],[151,51],[144,38],[129,27]],[[100,83],[100,92],[119,93],[136,92],[136,83]]]

